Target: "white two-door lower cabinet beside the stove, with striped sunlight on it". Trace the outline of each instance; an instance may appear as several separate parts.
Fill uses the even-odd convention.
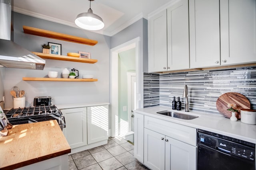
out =
[[[108,142],[108,105],[61,109],[71,154]]]

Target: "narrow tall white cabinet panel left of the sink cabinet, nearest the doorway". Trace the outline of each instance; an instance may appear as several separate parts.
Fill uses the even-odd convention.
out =
[[[144,115],[134,114],[134,157],[144,162]]]

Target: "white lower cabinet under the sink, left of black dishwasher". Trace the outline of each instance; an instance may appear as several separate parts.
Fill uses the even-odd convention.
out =
[[[135,158],[152,170],[196,170],[195,128],[139,113],[135,113],[136,121]],[[143,157],[139,149],[142,143]]]

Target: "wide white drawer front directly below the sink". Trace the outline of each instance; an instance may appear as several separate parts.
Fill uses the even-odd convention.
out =
[[[195,128],[149,116],[144,117],[144,127],[152,131],[162,133],[163,135],[169,136],[173,139],[196,146]]]

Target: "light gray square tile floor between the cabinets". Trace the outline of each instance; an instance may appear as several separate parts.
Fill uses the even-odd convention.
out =
[[[108,144],[68,155],[69,170],[149,170],[133,156],[126,140],[109,138]]]

